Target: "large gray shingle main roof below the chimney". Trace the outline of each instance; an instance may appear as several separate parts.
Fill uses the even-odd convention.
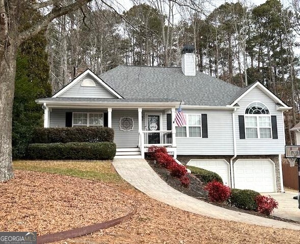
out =
[[[118,66],[99,77],[125,99],[137,101],[171,99],[184,105],[226,106],[243,90],[199,71],[185,76],[181,67]]]

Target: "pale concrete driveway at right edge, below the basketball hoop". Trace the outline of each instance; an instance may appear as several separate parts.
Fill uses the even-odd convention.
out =
[[[274,216],[300,222],[298,201],[293,199],[297,195],[296,192],[261,193],[261,195],[270,195],[278,202],[278,208],[274,209]]]

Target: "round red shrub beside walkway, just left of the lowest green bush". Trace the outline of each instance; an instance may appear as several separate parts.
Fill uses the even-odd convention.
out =
[[[224,202],[231,194],[230,187],[224,186],[216,180],[208,182],[204,190],[208,191],[209,200],[212,202]]]

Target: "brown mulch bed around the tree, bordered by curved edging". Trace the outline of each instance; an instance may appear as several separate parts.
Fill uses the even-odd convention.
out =
[[[0,231],[38,235],[84,227],[127,215],[136,203],[101,182],[15,170],[0,183]]]

